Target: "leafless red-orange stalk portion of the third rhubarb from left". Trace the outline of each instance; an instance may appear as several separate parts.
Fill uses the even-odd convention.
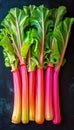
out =
[[[35,119],[35,71],[29,72],[29,120]]]

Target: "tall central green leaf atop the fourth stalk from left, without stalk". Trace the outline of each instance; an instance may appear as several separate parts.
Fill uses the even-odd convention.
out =
[[[35,39],[37,39],[37,46],[35,52],[33,49],[33,57],[38,60],[40,66],[43,66],[44,64],[44,49],[42,50],[42,48],[44,48],[44,46],[48,46],[48,33],[51,33],[51,26],[53,24],[53,21],[50,20],[50,15],[51,12],[49,9],[41,5],[33,11],[30,18],[31,26],[37,30],[36,35],[38,36],[35,36]]]

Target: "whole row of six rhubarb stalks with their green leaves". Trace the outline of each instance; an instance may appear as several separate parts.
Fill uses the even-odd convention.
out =
[[[0,46],[13,76],[15,124],[61,123],[59,72],[74,22],[66,12],[65,6],[29,5],[10,9],[1,22]]]

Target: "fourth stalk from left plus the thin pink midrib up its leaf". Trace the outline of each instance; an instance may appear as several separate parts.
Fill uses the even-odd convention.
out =
[[[35,110],[35,121],[38,124],[42,124],[44,122],[44,20],[42,17],[42,45],[41,45],[41,53],[40,53],[40,65],[42,68],[38,68],[36,70],[36,110]]]

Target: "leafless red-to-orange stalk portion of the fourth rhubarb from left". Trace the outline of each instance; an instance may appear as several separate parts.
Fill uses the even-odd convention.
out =
[[[37,68],[36,70],[36,106],[35,121],[38,124],[44,122],[44,70]]]

